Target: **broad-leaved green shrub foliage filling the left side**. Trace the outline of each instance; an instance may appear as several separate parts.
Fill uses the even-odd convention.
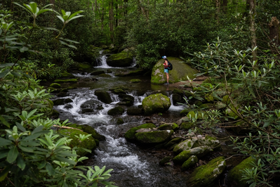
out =
[[[114,186],[107,181],[112,169],[105,172],[105,167],[92,169],[77,165],[87,157],[76,155],[79,146],[70,148],[67,144],[72,139],[51,129],[54,124],[59,127],[68,125],[68,120],[60,122],[48,118],[53,108],[53,103],[49,101],[51,95],[39,86],[34,77],[46,75],[53,65],[48,64],[46,70],[38,70],[32,60],[20,60],[20,56],[25,56],[27,52],[37,53],[29,42],[32,43],[34,30],[44,28],[37,26],[35,20],[38,15],[50,10],[40,10],[35,3],[20,7],[33,17],[27,35],[10,32],[13,21],[5,21],[9,14],[0,18],[1,186],[98,186],[98,183]],[[67,20],[71,20],[71,15]],[[88,136],[80,135],[79,141],[86,141]],[[84,172],[87,174],[84,175]]]

